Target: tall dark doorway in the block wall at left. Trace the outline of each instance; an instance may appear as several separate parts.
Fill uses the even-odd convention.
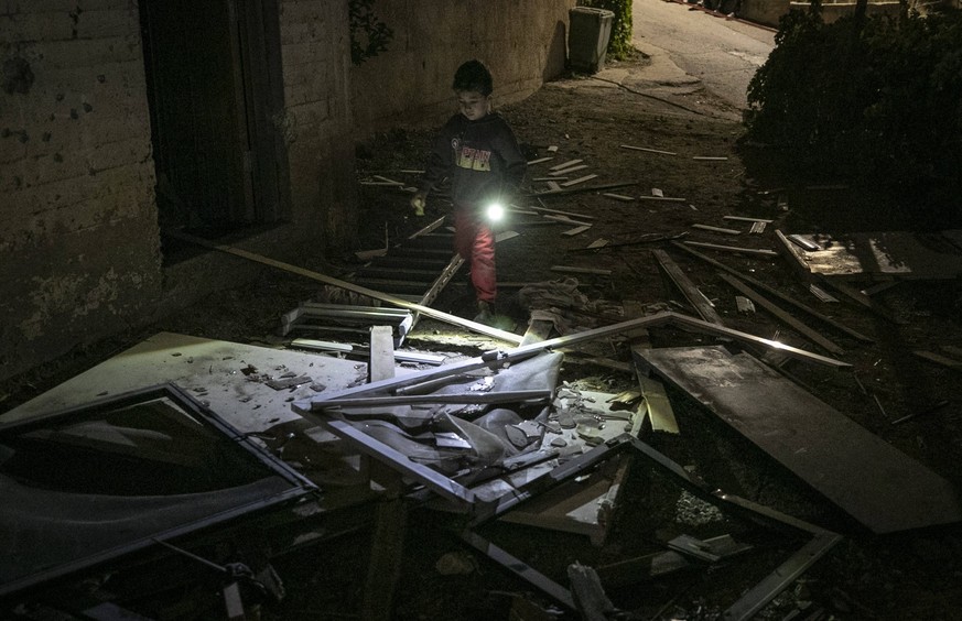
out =
[[[140,7],[161,226],[216,237],[283,220],[275,0]]]

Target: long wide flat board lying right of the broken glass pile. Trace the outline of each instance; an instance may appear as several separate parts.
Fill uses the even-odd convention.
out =
[[[873,532],[962,520],[949,481],[757,359],[723,347],[636,355]]]

